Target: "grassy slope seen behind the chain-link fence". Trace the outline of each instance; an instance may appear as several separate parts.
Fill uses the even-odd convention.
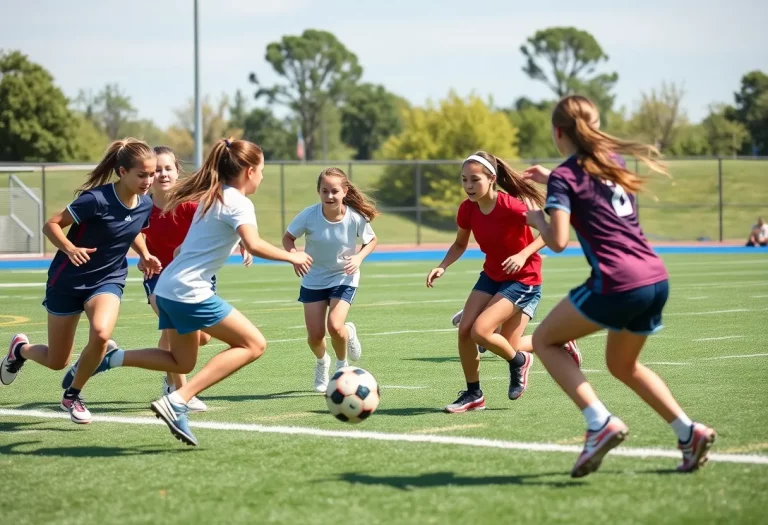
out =
[[[371,190],[382,176],[383,164],[342,163],[351,171],[353,180],[364,190]],[[553,167],[553,165],[550,165]],[[718,215],[718,162],[717,160],[669,160],[671,179],[654,177],[648,192],[640,196],[640,217],[643,228],[651,240],[695,241],[705,237],[719,238]],[[281,167],[267,165],[264,182],[253,196],[264,238],[279,242],[283,224],[317,200],[315,182],[324,166],[285,165],[285,210],[281,211]],[[516,166],[523,168],[518,163]],[[630,163],[630,168],[634,166]],[[745,240],[749,228],[760,215],[768,215],[768,161],[722,161],[723,170],[723,234],[725,239]],[[458,173],[458,167],[457,167]],[[51,171],[46,173],[46,208],[50,215],[61,210],[72,200],[72,192],[85,177],[84,171]],[[40,173],[20,177],[31,187],[41,186]],[[415,169],[414,169],[415,181]],[[458,176],[457,176],[458,185]],[[7,186],[7,175],[0,173],[0,187]],[[415,205],[415,203],[414,203]],[[429,213],[425,210],[424,217]],[[417,239],[416,213],[385,213],[374,223],[376,232],[385,243],[415,243]],[[423,226],[421,242],[451,242],[455,231],[442,231]]]

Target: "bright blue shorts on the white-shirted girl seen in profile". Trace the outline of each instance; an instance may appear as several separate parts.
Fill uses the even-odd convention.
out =
[[[188,334],[217,325],[232,311],[232,306],[218,295],[201,303],[182,303],[157,296],[160,330],[176,330]]]

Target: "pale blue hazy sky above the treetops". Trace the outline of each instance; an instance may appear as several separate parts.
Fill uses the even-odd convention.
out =
[[[75,8],[75,6],[77,6]],[[202,89],[212,97],[275,80],[269,42],[306,28],[333,32],[355,52],[364,80],[412,103],[453,88],[492,96],[551,97],[521,71],[519,51],[538,29],[591,32],[619,73],[619,105],[634,107],[662,81],[685,86],[692,120],[733,102],[741,76],[768,70],[768,2],[755,0],[200,0]],[[64,92],[118,83],[139,114],[165,126],[193,94],[191,0],[3,0],[0,49],[43,64]],[[760,22],[760,21],[763,22]]]

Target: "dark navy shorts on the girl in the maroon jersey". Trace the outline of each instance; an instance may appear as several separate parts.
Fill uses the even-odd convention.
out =
[[[583,284],[568,294],[573,306],[593,323],[638,335],[651,335],[664,328],[661,312],[667,297],[669,281],[613,294],[595,293]]]

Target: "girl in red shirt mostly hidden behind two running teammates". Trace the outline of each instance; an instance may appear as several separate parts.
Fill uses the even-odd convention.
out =
[[[173,212],[163,212],[167,201],[167,194],[176,184],[179,173],[183,173],[179,160],[173,150],[167,146],[158,146],[154,148],[157,155],[157,170],[155,171],[155,180],[152,184],[152,215],[149,220],[149,227],[142,230],[149,250],[156,254],[157,258],[166,268],[175,256],[175,251],[184,242],[189,227],[197,211],[197,202],[181,203]],[[242,252],[243,264],[250,266],[253,258],[248,252]],[[139,267],[143,270],[142,267]],[[144,290],[147,292],[147,301],[157,314],[157,297],[154,294],[155,285],[160,278],[160,274],[155,274],[144,279]],[[216,278],[213,278],[211,288],[216,291]],[[205,332],[200,332],[200,346],[208,344],[211,336]],[[170,342],[168,340],[167,330],[160,334],[160,340],[157,343],[158,348],[170,351]],[[163,379],[163,395],[168,395],[177,388],[181,388],[187,382],[184,374],[168,373]],[[207,407],[205,403],[197,397],[192,397],[187,408],[190,412],[204,412]]]

